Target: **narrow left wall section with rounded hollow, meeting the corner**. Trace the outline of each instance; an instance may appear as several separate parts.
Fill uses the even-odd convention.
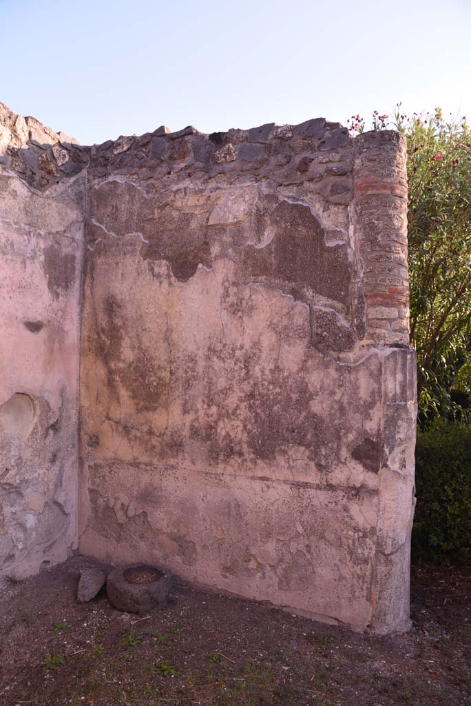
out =
[[[75,152],[0,104],[1,575],[35,573],[78,544],[85,173]]]

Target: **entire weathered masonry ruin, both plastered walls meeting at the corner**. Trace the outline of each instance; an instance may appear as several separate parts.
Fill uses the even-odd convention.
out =
[[[82,147],[0,104],[0,567],[68,552],[409,626],[405,145]]]

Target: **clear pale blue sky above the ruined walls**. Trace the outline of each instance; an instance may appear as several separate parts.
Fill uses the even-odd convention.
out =
[[[0,0],[0,100],[82,143],[374,109],[471,119],[471,0]]]

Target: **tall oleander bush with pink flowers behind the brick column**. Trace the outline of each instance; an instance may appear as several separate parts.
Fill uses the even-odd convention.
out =
[[[471,413],[471,129],[441,110],[359,115],[352,134],[407,138],[410,342],[417,350],[419,421]]]

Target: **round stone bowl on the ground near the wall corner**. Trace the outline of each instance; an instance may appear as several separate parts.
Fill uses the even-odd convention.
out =
[[[148,564],[132,564],[109,573],[106,595],[118,611],[149,613],[166,606],[172,585],[170,573]]]

